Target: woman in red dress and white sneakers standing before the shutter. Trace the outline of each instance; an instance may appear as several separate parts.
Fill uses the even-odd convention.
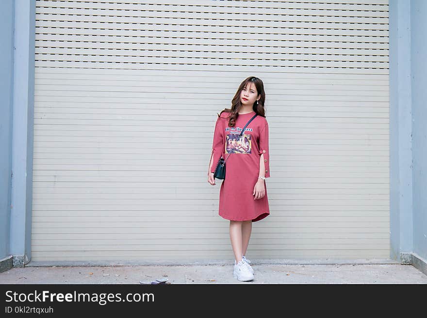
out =
[[[235,257],[233,276],[241,281],[254,278],[250,260],[245,257],[252,222],[270,214],[265,187],[265,178],[270,177],[270,158],[264,101],[261,79],[250,76],[240,84],[231,108],[222,110],[216,120],[208,170],[208,182],[215,185],[213,173],[218,160],[221,156],[227,158],[226,178],[219,193],[219,215],[230,220],[230,241]],[[255,114],[258,116],[247,125],[236,142]]]

